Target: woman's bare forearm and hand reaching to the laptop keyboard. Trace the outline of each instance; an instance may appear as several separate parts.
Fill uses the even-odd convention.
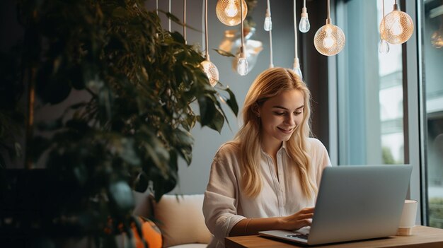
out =
[[[293,215],[270,218],[248,218],[240,220],[229,232],[229,236],[257,235],[265,230],[297,230],[311,225],[314,208],[303,208]]]

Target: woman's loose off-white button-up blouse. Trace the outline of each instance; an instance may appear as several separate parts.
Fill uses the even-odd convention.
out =
[[[306,144],[313,169],[309,176],[318,187],[321,172],[330,166],[328,151],[316,138],[309,138]],[[263,189],[253,199],[240,189],[239,158],[238,148],[229,143],[220,147],[214,156],[203,202],[205,223],[214,235],[208,247],[224,247],[224,238],[244,218],[287,216],[315,204],[315,199],[306,199],[301,191],[296,167],[287,155],[285,143],[277,151],[278,175],[272,158],[262,150]]]

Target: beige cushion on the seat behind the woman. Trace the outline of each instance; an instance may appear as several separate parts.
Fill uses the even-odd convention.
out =
[[[203,194],[164,195],[159,203],[154,203],[154,218],[164,247],[192,243],[206,247],[211,241],[212,234],[207,230],[202,211],[203,197]]]

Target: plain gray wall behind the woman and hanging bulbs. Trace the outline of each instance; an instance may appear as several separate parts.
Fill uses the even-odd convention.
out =
[[[188,25],[198,28],[200,30],[204,30],[202,27],[202,0],[188,0],[187,1],[187,20],[186,23]],[[270,1],[271,11],[272,11],[272,47],[273,47],[273,61],[275,66],[292,68],[292,64],[294,63],[294,23],[293,23],[293,1],[291,0],[279,0],[279,1]],[[300,18],[301,13],[301,4],[303,1],[297,1],[297,21]],[[236,27],[228,27],[223,25],[215,14],[215,6],[217,1],[210,0],[208,4],[208,34],[209,34],[209,56],[211,61],[217,66],[220,73],[220,79],[224,85],[229,85],[231,90],[236,95],[236,99],[238,105],[243,107],[243,101],[245,95],[248,91],[249,86],[253,82],[254,78],[265,69],[268,68],[270,64],[270,47],[269,47],[269,34],[263,30],[263,20],[265,18],[265,10],[266,10],[266,1],[258,1],[256,8],[253,9],[253,20],[256,23],[256,31],[255,35],[251,37],[253,40],[260,40],[263,42],[263,51],[258,55],[257,64],[255,64],[254,68],[248,73],[246,76],[239,76],[235,71],[231,69],[231,59],[228,57],[222,57],[217,54],[217,52],[213,51],[213,48],[218,48],[220,42],[224,37],[224,30],[229,29],[238,29],[240,30],[240,25]],[[308,1],[308,4],[311,4],[311,1]],[[318,6],[317,3],[316,8],[323,8],[323,6]],[[146,6],[148,6],[149,10],[154,10],[156,8],[156,1],[150,0],[146,2]],[[161,0],[159,1],[159,8],[167,11],[168,10],[168,1]],[[325,6],[326,8],[326,6]],[[309,33],[302,34],[298,33],[299,37],[299,47],[304,47],[304,52],[301,52],[299,49],[299,59],[301,62],[301,68],[306,71],[309,70],[304,68],[304,63],[307,65],[307,57],[306,51],[313,51],[313,42],[312,37],[315,34],[316,30],[320,28],[321,25],[324,25],[324,21],[326,19],[326,11],[320,12],[317,16],[313,13],[315,8],[309,8],[309,18],[316,18],[318,20],[311,20],[311,30]],[[183,1],[172,0],[171,12],[177,16],[178,18],[183,20]],[[159,16],[162,19],[163,28],[168,29],[168,20],[163,13],[159,13]],[[173,23],[172,30],[176,30],[182,33],[183,28],[179,25],[175,25]],[[309,40],[306,40],[308,38]],[[202,33],[197,33],[193,30],[187,30],[187,40],[188,44],[202,44]],[[304,41],[306,40],[306,41]],[[316,55],[314,55],[316,56]],[[320,59],[314,60],[314,63],[320,63],[321,66],[326,65],[326,57],[320,57]],[[311,65],[311,64],[309,64]],[[321,67],[320,66],[320,67]],[[306,66],[307,67],[307,66]],[[323,73],[325,76],[318,75],[318,64],[312,64],[312,71],[316,73],[316,75],[311,76],[316,79],[316,83],[321,83],[323,85],[327,85],[326,83],[326,71]],[[304,75],[306,81],[309,81],[309,75]],[[310,82],[308,82],[310,84]],[[311,87],[311,85],[310,85]],[[314,87],[313,87],[314,88]],[[312,90],[312,89],[311,89]],[[320,90],[322,94],[327,95],[327,86],[323,87]],[[326,105],[326,110],[318,109],[321,112],[325,112],[327,116],[327,98],[316,99],[316,95],[319,95],[318,92],[313,92],[313,102],[314,102],[314,114],[316,105]],[[224,126],[222,133],[219,134],[217,131],[213,131],[212,129],[208,129],[207,127],[201,128],[199,125],[195,127],[192,131],[192,136],[195,138],[195,145],[192,153],[192,163],[190,166],[186,165],[184,161],[180,162],[179,165],[179,182],[178,187],[171,192],[176,194],[199,194],[203,193],[207,186],[207,181],[209,178],[209,170],[212,163],[212,158],[214,154],[217,152],[217,149],[222,145],[222,143],[229,141],[234,137],[236,131],[238,130],[238,126],[241,124],[241,112],[238,114],[238,118],[235,118],[234,114],[230,112],[228,109],[226,110],[226,114],[229,118],[229,123],[231,129],[229,129],[228,125]],[[196,110],[197,111],[197,110]],[[316,122],[316,117],[314,115],[313,121]],[[323,123],[321,126],[323,130],[327,130],[328,122]],[[316,130],[314,128],[314,133]],[[323,141],[324,142],[324,141]]]

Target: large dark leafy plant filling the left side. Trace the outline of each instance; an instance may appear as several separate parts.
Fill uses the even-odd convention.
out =
[[[21,80],[47,104],[72,90],[88,98],[37,124],[50,135],[35,136],[27,152],[34,163],[44,161],[45,189],[54,195],[42,193],[57,202],[47,203],[49,220],[25,223],[59,235],[74,230],[96,244],[130,235],[131,225],[139,230],[131,190],[151,184],[157,200],[171,191],[178,158],[192,160],[190,130],[200,122],[221,131],[219,99],[237,114],[234,94],[209,85],[202,53],[163,30],[142,0],[22,0],[18,10],[25,31]],[[66,196],[57,198],[55,188]],[[0,228],[21,225],[16,217]]]

